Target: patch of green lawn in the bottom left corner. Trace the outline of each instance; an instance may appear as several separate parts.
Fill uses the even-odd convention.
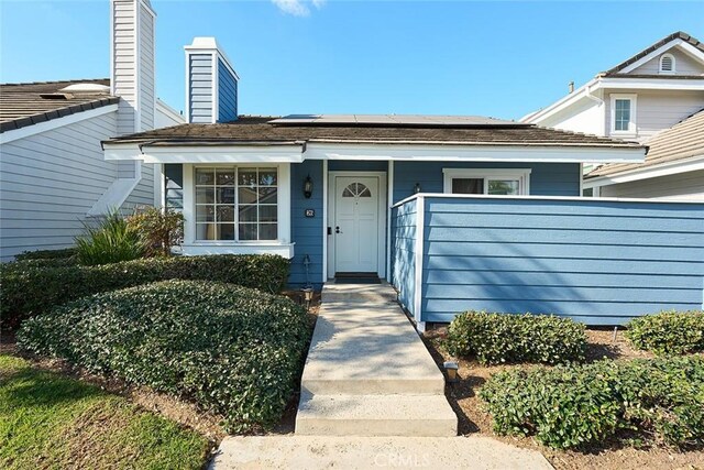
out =
[[[200,469],[209,449],[123,397],[0,354],[0,468]]]

